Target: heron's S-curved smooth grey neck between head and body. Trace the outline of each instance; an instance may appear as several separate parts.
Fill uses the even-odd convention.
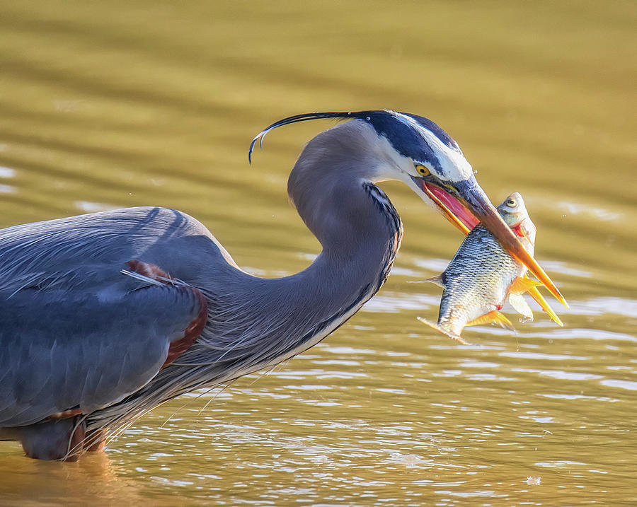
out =
[[[371,182],[365,139],[343,144],[338,128],[309,142],[288,182],[323,252],[302,272],[279,279],[234,272],[228,291],[212,293],[223,315],[210,327],[210,341],[221,339],[221,356],[242,363],[243,373],[298,354],[348,320],[384,284],[400,247],[402,224]],[[254,349],[261,353],[254,356]]]

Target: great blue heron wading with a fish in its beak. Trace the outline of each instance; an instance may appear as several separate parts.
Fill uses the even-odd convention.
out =
[[[375,183],[400,180],[449,220],[481,221],[560,293],[478,186],[456,141],[389,110],[305,146],[287,190],[323,250],[302,272],[240,269],[210,231],[173,209],[138,207],[0,231],[0,439],[76,460],[166,400],[285,361],[348,320],[389,275],[401,220]]]

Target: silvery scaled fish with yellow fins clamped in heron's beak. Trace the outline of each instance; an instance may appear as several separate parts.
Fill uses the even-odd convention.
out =
[[[498,213],[533,255],[536,227],[529,217],[524,199],[518,192],[510,194]],[[425,281],[442,286],[442,299],[437,323],[423,317],[418,320],[448,337],[469,344],[461,337],[464,327],[493,322],[515,331],[510,320],[500,310],[508,299],[512,307],[527,320],[533,312],[522,294],[529,294],[558,325],[563,325],[537,290],[539,281],[527,276],[527,268],[512,257],[498,240],[481,224],[466,236],[444,271]]]

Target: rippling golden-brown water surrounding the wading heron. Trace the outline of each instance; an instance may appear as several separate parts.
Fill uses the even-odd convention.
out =
[[[398,183],[381,293],[268,375],[156,409],[75,464],[0,443],[3,505],[633,505],[637,9],[631,2],[1,2],[0,226],[139,204],[263,276],[318,243],[287,202],[287,115],[439,122],[494,202],[521,192],[568,298],[458,346],[416,320],[457,231]],[[553,301],[551,299],[551,301]],[[535,308],[535,307],[534,307]]]

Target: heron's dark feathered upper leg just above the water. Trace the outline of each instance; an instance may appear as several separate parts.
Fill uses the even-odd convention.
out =
[[[36,460],[77,461],[84,453],[86,425],[81,416],[16,428],[25,455]]]

